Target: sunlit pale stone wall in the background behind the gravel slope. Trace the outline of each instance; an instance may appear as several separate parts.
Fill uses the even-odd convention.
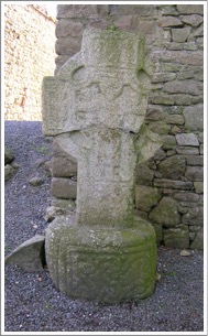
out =
[[[44,7],[4,4],[6,120],[42,120],[42,80],[55,69],[55,24]]]

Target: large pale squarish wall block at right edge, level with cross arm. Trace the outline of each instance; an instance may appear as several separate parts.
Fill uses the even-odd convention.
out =
[[[184,109],[185,128],[188,131],[202,131],[204,129],[204,105],[188,106]]]

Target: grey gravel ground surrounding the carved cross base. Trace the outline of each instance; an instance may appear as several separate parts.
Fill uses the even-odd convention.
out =
[[[35,234],[44,234],[50,205],[50,177],[44,166],[52,154],[51,138],[41,122],[7,121],[6,144],[20,164],[6,183],[6,254]],[[44,176],[32,186],[32,176]],[[179,250],[157,250],[154,295],[123,304],[72,300],[53,285],[50,273],[28,273],[6,267],[6,332],[202,332],[204,261],[201,251],[180,257]],[[136,334],[136,333],[135,333]]]

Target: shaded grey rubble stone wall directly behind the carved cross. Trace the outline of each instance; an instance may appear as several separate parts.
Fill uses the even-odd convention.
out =
[[[154,225],[158,245],[202,249],[204,7],[61,4],[57,19],[56,73],[80,50],[86,26],[145,35],[154,67],[145,120],[163,147],[138,165],[135,213]],[[54,142],[53,206],[74,208],[75,171]]]

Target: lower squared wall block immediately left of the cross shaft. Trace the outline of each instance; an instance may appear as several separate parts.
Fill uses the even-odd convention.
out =
[[[77,197],[77,182],[72,178],[53,177],[51,192],[55,197],[75,199]]]

